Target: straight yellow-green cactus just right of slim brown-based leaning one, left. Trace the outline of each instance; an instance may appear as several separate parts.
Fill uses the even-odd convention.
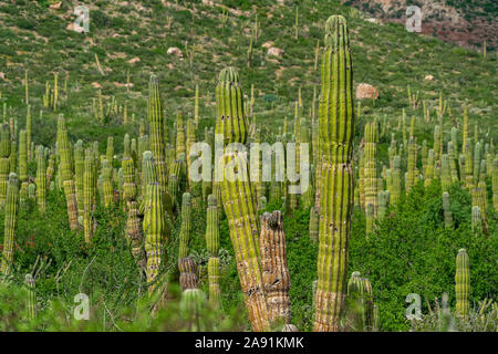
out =
[[[93,152],[91,149],[86,149],[83,176],[83,229],[86,243],[90,243],[92,240],[95,228],[95,219],[93,217],[96,189],[95,174],[96,167]]]

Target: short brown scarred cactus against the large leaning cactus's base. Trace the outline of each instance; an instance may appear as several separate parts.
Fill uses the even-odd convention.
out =
[[[290,323],[290,274],[287,267],[286,235],[282,214],[279,210],[264,212],[260,218],[259,249],[267,308],[270,324]]]

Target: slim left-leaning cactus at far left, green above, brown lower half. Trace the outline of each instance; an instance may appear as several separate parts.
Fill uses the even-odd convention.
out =
[[[59,158],[61,160],[59,178],[64,187],[70,228],[71,230],[75,230],[77,229],[77,201],[73,180],[73,156],[68,139],[65,119],[62,115],[59,116],[58,121],[58,146]]]

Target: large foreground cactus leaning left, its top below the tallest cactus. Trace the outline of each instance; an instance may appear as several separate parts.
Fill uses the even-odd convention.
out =
[[[245,144],[248,125],[239,74],[234,67],[224,69],[216,87],[216,134],[222,136],[224,147],[229,143]],[[230,165],[232,168],[226,171],[226,168],[219,168],[219,165]],[[215,162],[215,166],[218,167],[218,174],[227,173],[227,176],[215,176],[222,180],[221,184],[215,184],[215,187],[221,187],[221,200],[230,228],[249,319],[255,331],[264,331],[269,327],[269,319],[259,259],[257,210],[248,178],[248,163],[241,153],[234,152],[225,154],[222,162]],[[219,178],[220,176],[222,178]]]

